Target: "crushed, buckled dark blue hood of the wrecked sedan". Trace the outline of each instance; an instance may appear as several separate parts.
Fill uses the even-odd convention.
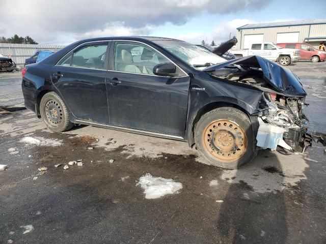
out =
[[[205,72],[212,72],[221,68],[236,68],[240,65],[244,69],[261,68],[264,80],[277,92],[291,96],[306,96],[300,79],[291,71],[261,56],[246,56],[233,59],[221,64],[213,65],[203,69]]]

